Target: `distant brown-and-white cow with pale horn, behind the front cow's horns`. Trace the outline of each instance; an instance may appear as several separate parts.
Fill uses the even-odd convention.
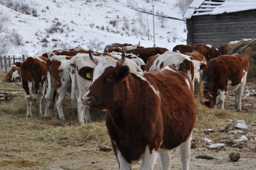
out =
[[[135,45],[127,44],[127,43],[125,43],[125,44],[119,44],[119,43],[109,44],[109,45],[106,45],[104,52],[113,52],[116,50],[117,50],[116,52],[122,52],[122,47],[124,47],[124,51],[136,49],[136,48],[140,47],[140,41],[139,41],[139,44],[135,44]]]

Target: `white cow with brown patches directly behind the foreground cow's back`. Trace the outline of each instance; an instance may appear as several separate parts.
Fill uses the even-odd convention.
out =
[[[154,72],[160,70],[163,66],[173,65],[177,70],[185,72],[188,75],[193,84],[193,90],[194,83],[197,83],[200,80],[200,70],[206,68],[204,60],[201,62],[198,60],[191,60],[187,55],[170,51],[166,51],[159,56],[152,56],[149,60],[150,62],[146,63],[146,71]]]

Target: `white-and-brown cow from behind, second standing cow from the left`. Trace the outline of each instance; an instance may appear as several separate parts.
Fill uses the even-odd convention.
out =
[[[65,120],[62,104],[66,93],[71,92],[71,80],[68,73],[68,61],[71,58],[72,56],[53,55],[46,63],[48,88],[45,96],[45,117],[49,117],[50,102],[54,98],[59,119]],[[56,96],[54,97],[55,91]]]

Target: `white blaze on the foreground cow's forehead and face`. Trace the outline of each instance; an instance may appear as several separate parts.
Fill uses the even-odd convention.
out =
[[[106,68],[111,66],[116,68],[117,63],[118,60],[116,60],[115,58],[109,56],[100,56],[100,58],[98,59],[98,65],[94,68],[92,84],[95,82],[95,80],[102,76]]]

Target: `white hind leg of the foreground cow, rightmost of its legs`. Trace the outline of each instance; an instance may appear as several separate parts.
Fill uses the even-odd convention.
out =
[[[192,138],[192,132],[188,139],[180,144],[180,161],[182,164],[182,170],[188,170],[189,169],[189,161],[190,161],[190,146],[191,146],[191,138]]]

